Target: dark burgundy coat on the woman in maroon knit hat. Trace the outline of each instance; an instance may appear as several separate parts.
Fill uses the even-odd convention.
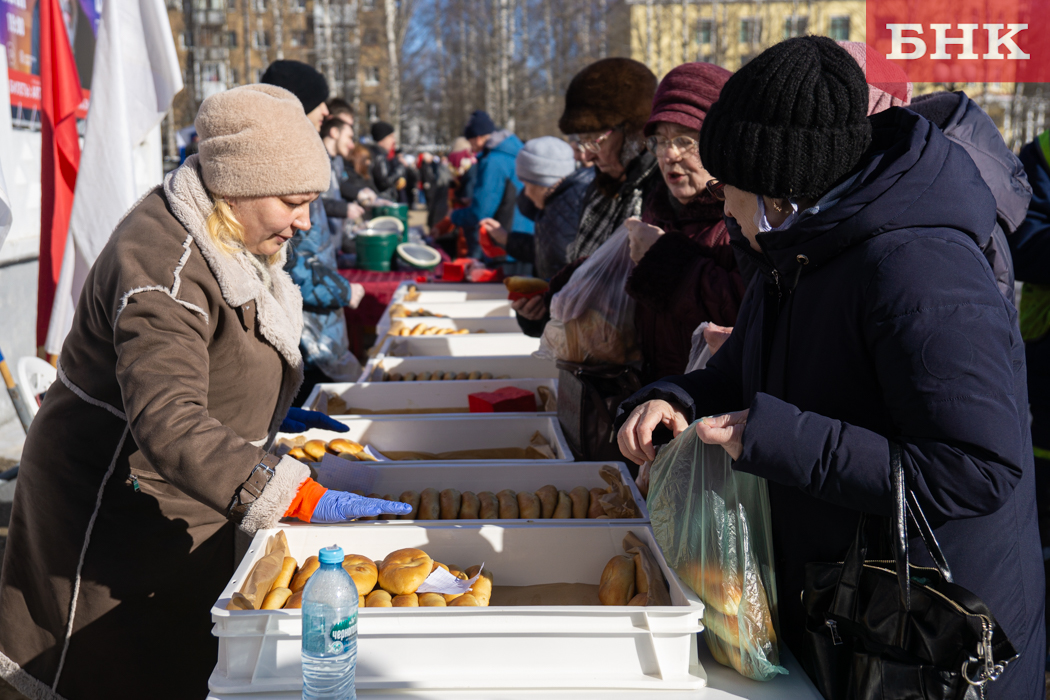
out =
[[[744,283],[722,222],[722,204],[707,193],[680,205],[660,181],[642,220],[666,232],[627,280],[627,293],[637,301],[642,379],[652,382],[686,370],[697,325],[736,323]]]

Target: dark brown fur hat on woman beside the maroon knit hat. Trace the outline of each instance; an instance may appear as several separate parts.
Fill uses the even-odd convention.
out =
[[[565,92],[562,133],[592,133],[624,125],[640,131],[652,110],[656,76],[632,59],[602,59],[573,78]]]

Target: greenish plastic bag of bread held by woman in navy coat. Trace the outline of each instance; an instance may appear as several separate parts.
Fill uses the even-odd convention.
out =
[[[668,565],[704,601],[704,638],[715,660],[754,680],[786,674],[765,480],[734,471],[694,423],[653,462],[647,504]]]

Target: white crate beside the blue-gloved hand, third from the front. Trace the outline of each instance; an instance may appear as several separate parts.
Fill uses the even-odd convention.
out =
[[[277,438],[303,436],[307,440],[345,438],[368,444],[379,452],[452,452],[468,449],[528,447],[538,430],[558,457],[544,462],[571,462],[572,452],[565,442],[562,426],[550,415],[539,413],[464,413],[438,416],[371,416],[337,419],[350,427],[348,432],[317,428],[301,433],[277,433]],[[471,460],[474,461],[474,460]],[[479,460],[481,461],[481,460]],[[484,460],[491,461],[491,460]],[[537,460],[501,460],[504,464],[530,464]],[[398,464],[433,464],[435,461],[403,460]],[[542,486],[542,484],[541,484]]]

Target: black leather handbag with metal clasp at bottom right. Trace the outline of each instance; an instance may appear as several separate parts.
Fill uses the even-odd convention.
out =
[[[952,582],[890,442],[894,560],[866,559],[867,525],[839,564],[807,564],[802,663],[827,700],[978,700],[1017,658],[988,607]],[[908,516],[936,568],[908,563]]]

